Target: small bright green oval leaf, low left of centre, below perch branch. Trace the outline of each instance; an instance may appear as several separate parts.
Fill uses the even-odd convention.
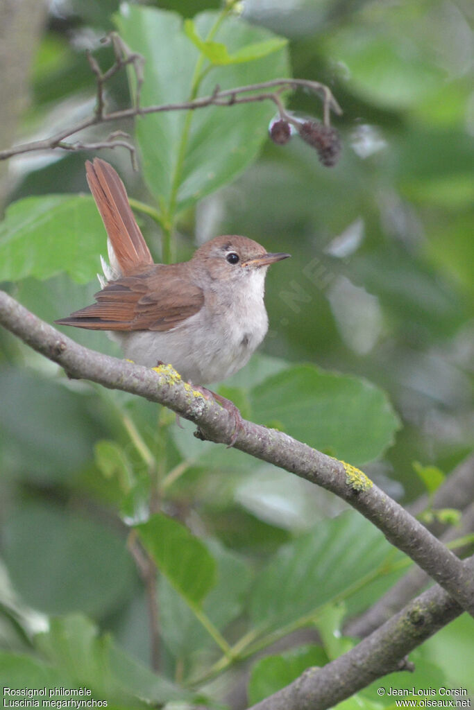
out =
[[[160,572],[191,606],[200,606],[216,581],[215,561],[203,542],[159,513],[135,530]]]

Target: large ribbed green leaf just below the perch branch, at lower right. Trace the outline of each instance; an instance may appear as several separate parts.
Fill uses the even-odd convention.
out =
[[[387,559],[400,559],[372,523],[355,512],[325,520],[311,532],[283,545],[262,569],[252,589],[249,613],[255,626],[274,629],[310,623],[329,601],[346,601],[362,590],[372,601],[369,582]],[[360,607],[359,607],[360,608]]]

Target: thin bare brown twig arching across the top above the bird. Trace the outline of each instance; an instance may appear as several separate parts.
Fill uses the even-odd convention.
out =
[[[343,112],[338,102],[333,97],[330,89],[326,87],[325,84],[306,79],[274,79],[269,82],[259,82],[257,84],[249,84],[248,86],[236,87],[235,89],[225,89],[222,91],[219,87],[216,87],[210,96],[194,99],[193,101],[141,107],[140,93],[141,86],[144,82],[144,58],[139,53],[132,52],[126,43],[124,43],[124,40],[122,40],[116,32],[112,32],[107,35],[107,38],[104,38],[104,43],[111,44],[114,50],[114,64],[112,64],[107,71],[102,72],[97,60],[90,53],[87,53],[87,60],[96,80],[97,100],[92,116],[89,116],[87,119],[80,121],[80,123],[77,123],[74,126],[69,126],[68,128],[55,133],[55,135],[50,136],[49,138],[23,143],[19,146],[13,146],[12,148],[6,148],[5,150],[0,151],[0,160],[6,160],[7,158],[11,158],[13,155],[21,155],[21,153],[53,150],[55,148],[62,148],[67,151],[79,151],[122,146],[130,151],[132,163],[134,163],[135,167],[136,156],[133,146],[129,143],[121,141],[113,141],[113,144],[112,142],[109,143],[111,136],[109,136],[109,138],[105,141],[99,141],[98,143],[71,143],[69,141],[65,141],[67,138],[70,138],[70,136],[75,135],[75,133],[79,133],[80,131],[84,131],[85,129],[99,124],[107,124],[110,121],[133,119],[135,116],[156,114],[161,113],[162,111],[190,111],[195,109],[203,109],[209,106],[230,107],[235,104],[248,104],[260,101],[274,102],[281,119],[284,119],[289,124],[293,124],[293,126],[298,127],[301,124],[301,121],[293,118],[291,113],[286,111],[280,97],[282,92],[298,88],[306,89],[306,91],[312,92],[313,94],[317,94],[321,97],[323,102],[323,122],[325,125],[329,126],[330,124],[330,111],[334,111],[334,113],[338,115]],[[135,105],[128,109],[107,112],[104,97],[104,85],[111,77],[127,65],[131,65],[134,68],[136,80]],[[266,89],[275,89],[275,91],[268,92]]]

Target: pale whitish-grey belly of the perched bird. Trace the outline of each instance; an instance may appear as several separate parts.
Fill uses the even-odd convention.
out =
[[[267,328],[264,309],[240,322],[231,312],[210,318],[200,311],[166,332],[114,332],[113,337],[136,364],[171,363],[184,380],[198,385],[224,380],[247,364]]]

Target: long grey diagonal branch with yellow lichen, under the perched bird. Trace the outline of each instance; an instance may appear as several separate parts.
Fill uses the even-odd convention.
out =
[[[58,363],[70,377],[85,378],[165,405],[195,422],[210,441],[224,443],[232,438],[235,428],[232,415],[183,382],[171,366],[146,368],[84,348],[2,291],[0,323],[34,350]],[[453,552],[372,484],[362,471],[311,449],[283,432],[253,422],[243,422],[235,448],[343,498],[474,615],[472,574]]]

